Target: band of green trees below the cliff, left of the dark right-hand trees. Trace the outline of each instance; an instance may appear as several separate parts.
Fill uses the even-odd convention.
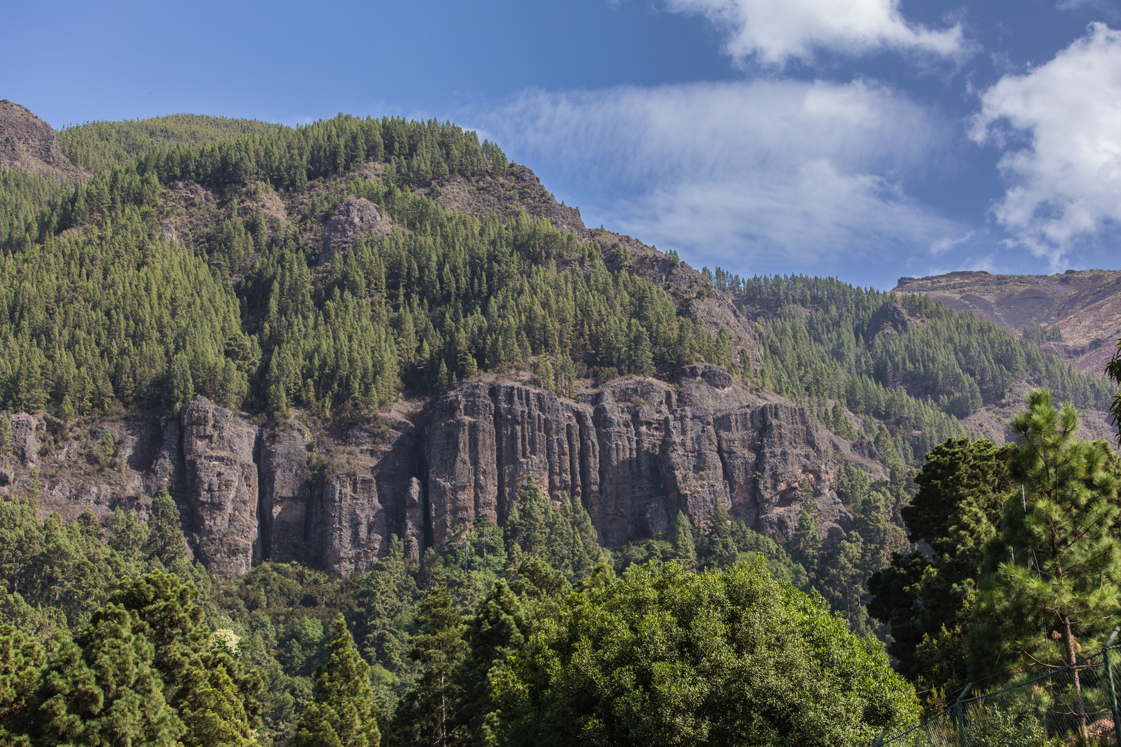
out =
[[[506,526],[460,527],[419,562],[395,541],[356,578],[265,562],[219,581],[185,559],[166,494],[147,524],[39,521],[34,494],[0,510],[4,539],[27,538],[2,567],[9,741],[517,745],[591,729],[596,744],[858,745],[916,713],[881,644],[768,572],[759,550],[776,545],[726,520],[677,525],[692,568],[617,577],[580,503],[530,483]],[[593,641],[599,674],[577,663]]]

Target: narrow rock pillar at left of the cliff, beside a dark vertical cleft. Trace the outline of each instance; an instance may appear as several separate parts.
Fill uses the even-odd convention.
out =
[[[198,558],[221,576],[244,573],[260,557],[256,442],[254,426],[204,396],[183,409],[187,524]]]

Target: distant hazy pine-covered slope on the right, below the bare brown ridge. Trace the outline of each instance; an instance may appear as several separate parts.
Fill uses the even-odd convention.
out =
[[[832,278],[740,279],[719,268],[716,286],[736,293],[760,324],[765,385],[806,404],[844,438],[853,437],[844,408],[884,421],[892,437],[906,436],[911,454],[899,455],[906,464],[963,438],[960,418],[1003,403],[1025,381],[1080,407],[1101,407],[1111,396],[1101,379],[927,296],[899,297]],[[880,332],[884,323],[877,314],[889,302],[912,323]]]

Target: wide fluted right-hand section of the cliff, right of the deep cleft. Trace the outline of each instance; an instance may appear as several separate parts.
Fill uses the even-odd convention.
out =
[[[432,543],[479,515],[501,522],[534,477],[577,496],[611,547],[666,529],[678,511],[706,525],[717,502],[759,531],[789,533],[813,486],[826,531],[851,516],[830,488],[854,464],[882,465],[803,408],[752,391],[716,366],[683,371],[679,391],[631,377],[586,402],[518,384],[470,383],[437,402],[426,429]]]

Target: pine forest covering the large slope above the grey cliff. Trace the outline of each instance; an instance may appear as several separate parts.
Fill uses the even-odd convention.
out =
[[[109,131],[89,127],[93,134],[64,138],[75,158]],[[193,125],[183,127],[189,140]],[[379,158],[389,166],[380,178],[334,178]],[[497,147],[452,125],[340,118],[203,144],[160,140],[123,165],[102,161],[73,190],[0,177],[0,407],[72,417],[201,393],[232,408],[330,414],[530,356],[557,391],[589,373],[732,363],[726,337],[547,221],[480,223],[411,194],[409,184],[446,177],[450,165],[506,169]],[[287,176],[269,176],[274,167]],[[311,181],[318,177],[331,178]],[[304,217],[269,225],[234,196],[175,241],[163,223],[166,185],[182,178],[253,185],[250,194],[275,183],[304,200]],[[348,194],[377,203],[399,230],[363,241],[324,276],[316,221]]]

